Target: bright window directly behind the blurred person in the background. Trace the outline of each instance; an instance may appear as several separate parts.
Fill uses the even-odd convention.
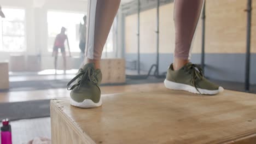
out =
[[[60,11],[48,11],[47,13],[48,51],[49,52],[53,51],[53,44],[54,44],[55,37],[57,34],[60,33],[61,27],[65,27],[71,52],[80,52],[79,27],[80,27],[80,23],[83,23],[83,17],[84,17],[84,14],[82,13],[66,13],[66,12],[60,12]]]

